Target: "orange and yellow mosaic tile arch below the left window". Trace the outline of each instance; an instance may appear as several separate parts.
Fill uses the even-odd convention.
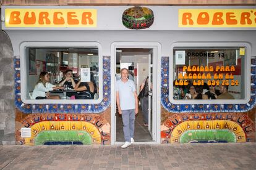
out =
[[[48,131],[51,131],[51,130],[54,130],[54,131],[64,131],[65,130],[66,131],[67,129],[72,130],[72,131],[92,130],[92,128],[82,127],[82,125],[76,126],[75,128],[71,127],[72,125],[74,125],[74,122],[77,123],[77,125],[79,123],[82,124],[82,122],[91,123],[92,126],[95,126],[95,128],[98,129],[98,131],[100,133],[100,138],[101,138],[100,144],[102,144],[102,145],[110,144],[110,124],[105,118],[103,118],[100,115],[88,114],[88,113],[82,113],[82,114],[80,114],[80,113],[70,113],[70,114],[69,113],[45,113],[45,114],[33,113],[33,114],[26,114],[26,116],[24,118],[19,120],[21,127],[27,127],[27,128],[28,127],[32,128],[34,125],[36,125],[38,123],[42,124],[44,122],[48,122],[48,124],[53,127],[51,127],[49,129],[49,126],[41,127],[40,125],[38,125],[39,127],[38,126],[35,127],[37,132],[38,131],[47,131],[47,130]],[[66,122],[67,124],[66,124],[65,128],[63,127],[64,129],[61,129],[60,126],[63,122]],[[38,135],[37,132],[32,131],[32,134],[34,134],[34,136],[37,136]],[[16,138],[16,141],[19,142],[20,145],[26,144],[25,141],[27,141],[28,145],[34,145],[34,141],[31,142],[30,138],[28,138],[26,140],[26,138],[21,137],[20,128],[16,129],[15,138]],[[32,138],[35,139],[35,137],[32,137]]]

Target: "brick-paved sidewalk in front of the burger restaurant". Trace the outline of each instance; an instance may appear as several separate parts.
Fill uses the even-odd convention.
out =
[[[256,169],[256,143],[1,145],[0,169]]]

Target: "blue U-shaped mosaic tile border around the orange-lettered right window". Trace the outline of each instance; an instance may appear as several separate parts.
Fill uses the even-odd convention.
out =
[[[256,59],[251,59],[250,100],[246,104],[173,104],[169,101],[169,57],[161,57],[161,105],[172,113],[245,112],[255,107]]]

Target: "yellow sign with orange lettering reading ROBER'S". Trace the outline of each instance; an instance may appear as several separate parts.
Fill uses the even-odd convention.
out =
[[[255,28],[256,9],[179,9],[179,27]]]

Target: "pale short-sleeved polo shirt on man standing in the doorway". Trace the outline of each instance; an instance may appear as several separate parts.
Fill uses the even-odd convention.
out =
[[[124,83],[121,79],[116,81],[116,91],[119,92],[119,103],[121,110],[135,109],[135,97],[136,91],[134,81],[128,79]]]

